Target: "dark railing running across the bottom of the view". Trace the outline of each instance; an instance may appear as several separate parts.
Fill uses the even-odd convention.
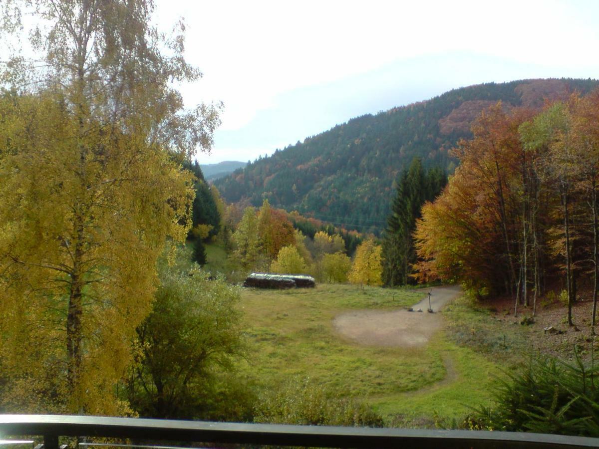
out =
[[[368,427],[288,426],[210,423],[140,418],[62,415],[0,415],[0,438],[43,436],[44,449],[59,449],[59,437],[105,437],[177,444],[237,443],[343,448],[599,448],[599,438],[544,433],[476,430],[371,429]],[[89,441],[87,445],[91,446]]]

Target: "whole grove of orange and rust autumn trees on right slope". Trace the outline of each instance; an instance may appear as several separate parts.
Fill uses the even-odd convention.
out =
[[[577,281],[591,275],[595,321],[599,238],[599,91],[571,95],[544,110],[501,104],[485,111],[461,164],[416,227],[420,280],[466,284],[478,294],[513,295],[536,307],[544,286],[562,277],[568,322]]]

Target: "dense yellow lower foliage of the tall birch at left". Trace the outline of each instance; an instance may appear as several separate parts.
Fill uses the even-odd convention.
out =
[[[63,104],[0,99],[0,401],[122,414],[114,386],[165,239],[187,234],[192,183],[143,135],[100,124],[80,135]]]

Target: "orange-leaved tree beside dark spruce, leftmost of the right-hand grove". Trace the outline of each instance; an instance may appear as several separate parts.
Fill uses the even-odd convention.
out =
[[[460,165],[416,225],[416,278],[464,283],[474,292],[522,287],[522,143],[518,127],[530,114],[483,111],[474,136],[454,154]]]

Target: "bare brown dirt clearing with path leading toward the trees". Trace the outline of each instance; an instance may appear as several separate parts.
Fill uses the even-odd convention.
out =
[[[461,293],[457,286],[435,287],[431,290],[431,306],[438,312]],[[428,293],[428,292],[427,292]],[[428,295],[413,306],[414,311],[359,310],[338,315],[333,326],[341,336],[359,344],[372,346],[415,347],[426,344],[432,334],[443,326],[441,315],[426,313]],[[416,310],[422,309],[422,312]]]

